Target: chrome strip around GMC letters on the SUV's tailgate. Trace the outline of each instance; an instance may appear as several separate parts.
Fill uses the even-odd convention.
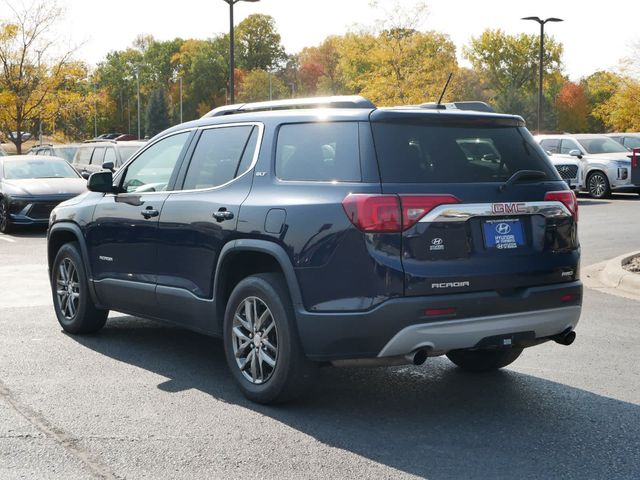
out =
[[[494,212],[492,205],[515,203],[519,206],[517,212]],[[542,215],[546,218],[570,217],[571,212],[561,202],[495,202],[495,203],[452,203],[440,205],[418,223],[430,222],[466,222],[473,217],[507,217],[513,215]]]

